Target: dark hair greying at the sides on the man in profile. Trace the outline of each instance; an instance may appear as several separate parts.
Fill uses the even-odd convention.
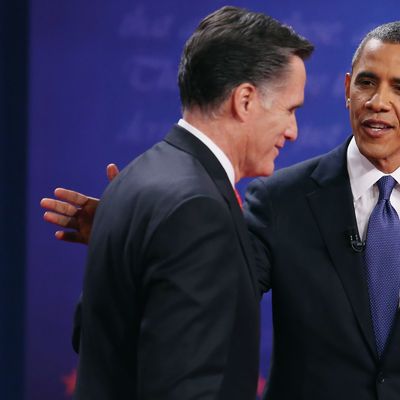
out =
[[[205,17],[185,44],[178,72],[182,107],[216,108],[238,85],[278,80],[290,56],[305,60],[313,50],[293,28],[225,6]]]

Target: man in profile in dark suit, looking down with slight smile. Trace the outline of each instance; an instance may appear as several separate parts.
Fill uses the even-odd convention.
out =
[[[188,40],[183,118],[96,212],[77,399],[255,398],[259,293],[233,185],[271,174],[296,138],[311,52],[290,28],[235,7]]]

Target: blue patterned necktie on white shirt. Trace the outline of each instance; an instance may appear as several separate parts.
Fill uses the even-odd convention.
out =
[[[365,264],[376,346],[381,356],[399,303],[400,221],[389,200],[396,181],[386,175],[377,183],[379,199],[368,222]]]

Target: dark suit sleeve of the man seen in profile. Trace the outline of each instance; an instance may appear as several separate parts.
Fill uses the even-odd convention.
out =
[[[243,264],[226,204],[191,198],[147,247],[138,349],[139,398],[218,399]]]

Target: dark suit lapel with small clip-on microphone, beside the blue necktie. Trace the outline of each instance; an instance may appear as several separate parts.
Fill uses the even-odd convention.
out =
[[[308,194],[308,201],[360,329],[377,357],[363,256],[351,248],[348,237],[349,229],[357,230],[357,223],[347,172],[347,146],[348,141],[321,158],[311,175],[319,187]]]

